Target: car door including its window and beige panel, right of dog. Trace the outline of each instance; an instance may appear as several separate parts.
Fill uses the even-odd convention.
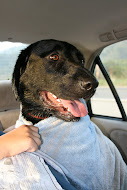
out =
[[[127,163],[127,41],[105,48],[91,67],[99,81],[88,101],[91,120],[118,147]]]

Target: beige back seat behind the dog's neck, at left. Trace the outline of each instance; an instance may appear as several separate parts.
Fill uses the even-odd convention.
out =
[[[0,126],[3,129],[15,124],[19,117],[19,103],[16,102],[11,81],[0,81]]]

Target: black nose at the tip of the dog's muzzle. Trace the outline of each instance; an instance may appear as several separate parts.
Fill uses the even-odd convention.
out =
[[[92,88],[96,89],[98,87],[98,81],[96,81],[96,82],[90,82],[90,81],[84,82],[84,81],[80,81],[80,86],[81,86],[81,88],[83,90],[89,91]]]

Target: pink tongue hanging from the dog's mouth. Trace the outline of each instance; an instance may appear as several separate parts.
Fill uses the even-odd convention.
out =
[[[88,114],[85,105],[79,100],[64,100],[60,99],[65,108],[68,108],[75,117],[84,117]]]

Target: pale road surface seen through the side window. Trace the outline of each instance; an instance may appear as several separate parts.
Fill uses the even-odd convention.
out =
[[[127,88],[118,88],[117,92],[127,113]],[[109,88],[99,87],[91,103],[93,113],[121,118],[121,113]]]

